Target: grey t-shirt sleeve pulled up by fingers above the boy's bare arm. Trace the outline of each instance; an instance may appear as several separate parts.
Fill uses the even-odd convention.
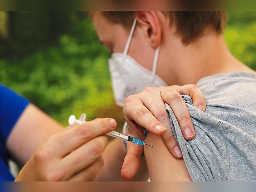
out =
[[[188,107],[196,136],[185,140],[178,121],[168,104],[172,131],[178,142],[188,172],[193,181],[227,181],[229,172],[230,144],[217,118],[193,106],[192,99],[183,95]]]

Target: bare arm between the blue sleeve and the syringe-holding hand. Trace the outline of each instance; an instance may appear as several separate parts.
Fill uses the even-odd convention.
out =
[[[63,128],[35,105],[29,104],[7,139],[7,149],[14,161],[23,166],[42,143]]]

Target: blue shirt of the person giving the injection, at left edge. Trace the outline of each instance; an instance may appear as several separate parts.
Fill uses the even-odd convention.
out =
[[[0,84],[0,181],[13,181],[8,166],[7,138],[29,101]]]

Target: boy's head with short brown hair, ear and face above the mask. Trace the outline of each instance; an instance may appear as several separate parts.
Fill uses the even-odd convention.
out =
[[[157,66],[160,77],[164,71],[158,68],[164,69],[167,65],[164,57],[172,58],[173,50],[197,45],[202,37],[221,36],[227,22],[225,11],[92,11],[89,16],[102,44],[111,52],[119,53],[124,51],[132,23],[137,18],[128,55],[152,70],[155,51],[160,46],[159,63],[163,63]]]

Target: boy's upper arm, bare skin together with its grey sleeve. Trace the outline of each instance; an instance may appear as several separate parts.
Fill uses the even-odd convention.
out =
[[[146,142],[154,145],[154,148],[145,146],[145,157],[151,178],[159,181],[226,180],[229,165],[226,160],[229,160],[230,148],[221,123],[216,118],[195,109],[194,106],[187,106],[196,131],[196,136],[191,141],[184,139],[172,109],[166,104],[172,132],[184,159],[174,158],[161,136],[147,135]]]

